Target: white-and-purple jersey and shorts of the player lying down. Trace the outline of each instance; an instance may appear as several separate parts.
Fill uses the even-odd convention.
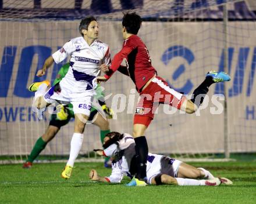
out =
[[[130,148],[133,144],[133,148]],[[123,156],[117,162],[112,163],[112,173],[108,178],[111,183],[120,183],[123,176],[131,178],[130,162],[135,155],[135,141],[130,134],[125,133],[122,140],[118,144],[112,144],[104,150],[106,156],[115,156],[119,151],[123,150]],[[126,152],[127,150],[127,152]],[[167,163],[166,163],[167,162]],[[182,163],[179,160],[172,159],[163,155],[148,153],[147,158],[147,183],[151,184],[153,177],[159,173],[166,173],[170,176],[177,177],[179,165]]]

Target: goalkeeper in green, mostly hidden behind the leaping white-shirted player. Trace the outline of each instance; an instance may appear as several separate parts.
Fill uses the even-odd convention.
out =
[[[64,64],[59,70],[56,79],[54,81],[54,85],[59,83],[63,77],[67,74],[69,70],[69,63]],[[97,86],[96,89],[97,95],[95,99],[98,100],[99,105],[101,105],[102,110],[105,113],[106,118],[111,119],[113,116],[113,111],[111,108],[108,108],[104,102],[104,93],[102,93],[102,88],[100,85]],[[71,118],[74,118],[73,105],[58,105],[57,113],[51,115],[51,119],[49,122],[49,126],[44,134],[36,141],[30,155],[28,156],[26,162],[23,163],[23,168],[30,168],[37,156],[40,154],[42,150],[44,150],[45,146],[49,141],[54,139],[55,135],[59,132],[62,126],[66,125]],[[94,125],[97,125],[100,129],[101,143],[103,144],[104,137],[110,131],[109,122],[105,119],[101,114],[98,114],[98,110],[95,107],[91,108],[90,118],[88,121],[93,121]],[[104,162],[105,167],[111,167],[111,161],[109,158],[105,159]]]

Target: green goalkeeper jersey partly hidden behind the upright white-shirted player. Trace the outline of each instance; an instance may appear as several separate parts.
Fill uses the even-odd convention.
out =
[[[69,71],[69,63],[66,63],[64,64],[61,69],[59,70],[55,80],[54,80],[54,84],[53,85],[56,85],[57,83],[59,83],[61,81],[61,79],[63,77],[65,77],[65,75],[67,74],[67,71]],[[104,93],[103,93],[103,90],[102,90],[102,87],[101,85],[97,85],[96,89],[95,89],[95,92],[96,92],[96,95],[94,96],[97,100],[99,101],[104,101]],[[66,105],[67,107],[67,110],[69,110],[69,115],[74,117],[74,112],[71,111],[73,110],[73,105],[72,104],[68,104]],[[72,109],[71,109],[72,108]],[[92,107],[91,108],[91,111],[94,111],[96,108]]]

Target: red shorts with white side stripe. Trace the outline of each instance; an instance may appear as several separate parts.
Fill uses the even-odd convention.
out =
[[[150,125],[159,104],[169,104],[180,110],[186,97],[170,88],[161,77],[155,77],[140,93],[133,124]]]

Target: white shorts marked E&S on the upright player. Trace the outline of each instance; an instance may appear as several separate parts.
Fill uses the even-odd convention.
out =
[[[76,93],[72,90],[72,86],[62,81],[59,85],[53,86],[44,94],[44,100],[47,101],[47,103],[54,103],[55,101],[60,104],[71,103],[73,105],[74,114],[89,116],[95,90],[84,90],[84,92]]]

